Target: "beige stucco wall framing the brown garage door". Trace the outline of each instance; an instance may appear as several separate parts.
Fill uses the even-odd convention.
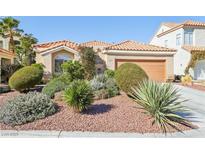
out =
[[[126,51],[125,51],[126,52]],[[144,51],[145,52],[145,51]],[[172,55],[113,55],[106,54],[105,62],[108,69],[115,70],[115,59],[129,60],[166,60],[166,79],[173,79],[173,56]]]

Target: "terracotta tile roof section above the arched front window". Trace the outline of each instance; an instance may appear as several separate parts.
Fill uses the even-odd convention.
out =
[[[73,50],[79,51],[79,45],[77,43],[67,40],[36,44],[34,45],[34,48],[37,50],[37,52],[44,52],[61,46],[66,46]]]

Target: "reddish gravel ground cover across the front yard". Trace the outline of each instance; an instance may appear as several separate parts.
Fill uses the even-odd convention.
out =
[[[8,93],[13,95],[14,93]],[[16,93],[15,93],[16,94]],[[2,100],[0,100],[0,104]],[[153,119],[126,95],[95,101],[88,111],[74,113],[65,103],[57,102],[59,112],[45,119],[20,126],[11,127],[0,124],[1,130],[58,130],[58,131],[94,131],[94,132],[160,132]],[[177,124],[180,130],[190,128]],[[169,132],[176,130],[170,129]]]

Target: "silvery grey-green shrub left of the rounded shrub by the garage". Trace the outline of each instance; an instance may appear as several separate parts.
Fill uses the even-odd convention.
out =
[[[109,78],[104,74],[96,75],[90,81],[96,99],[105,99],[119,94],[119,88],[115,79]]]

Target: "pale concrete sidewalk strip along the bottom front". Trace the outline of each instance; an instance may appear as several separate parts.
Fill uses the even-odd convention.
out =
[[[161,133],[106,133],[106,132],[65,132],[65,131],[12,131],[1,130],[0,138],[69,138],[69,137],[100,137],[100,138],[203,138],[205,128],[172,133],[166,136]]]

